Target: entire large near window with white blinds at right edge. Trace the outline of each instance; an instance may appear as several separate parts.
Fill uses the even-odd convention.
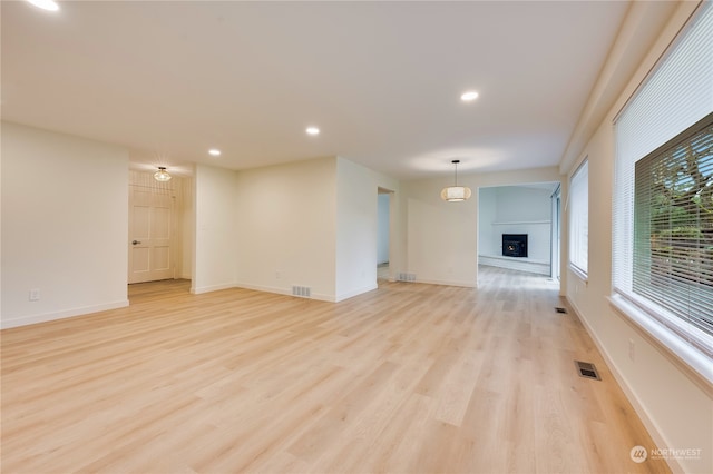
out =
[[[713,7],[615,121],[612,302],[713,382]]]

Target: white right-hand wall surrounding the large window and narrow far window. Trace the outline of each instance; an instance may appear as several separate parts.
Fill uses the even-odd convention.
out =
[[[713,398],[711,386],[686,368],[666,349],[638,329],[624,315],[615,310],[607,297],[612,285],[612,192],[614,167],[613,119],[635,88],[651,70],[675,33],[684,24],[695,3],[682,3],[671,22],[663,29],[648,56],[626,89],[619,95],[590,136],[568,174],[588,156],[589,160],[589,275],[588,282],[566,271],[567,298],[575,307],[595,339],[619,385],[627,394],[638,415],[660,448],[701,448],[699,458],[670,461],[678,472],[713,472]],[[644,7],[642,7],[644,8]],[[646,7],[647,8],[647,7]],[[634,24],[645,24],[646,10],[633,10]],[[615,51],[625,51],[629,34],[621,38]],[[611,58],[615,61],[617,58]],[[594,106],[588,105],[588,108]],[[565,246],[566,248],[566,246]],[[635,346],[629,358],[629,344]],[[645,446],[653,447],[653,446]]]

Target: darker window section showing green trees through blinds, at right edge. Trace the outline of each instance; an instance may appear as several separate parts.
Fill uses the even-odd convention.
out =
[[[713,336],[713,113],[634,175],[633,292]]]

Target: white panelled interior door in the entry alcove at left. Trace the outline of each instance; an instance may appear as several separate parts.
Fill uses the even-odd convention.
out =
[[[129,189],[129,283],[174,278],[172,216],[170,194]]]

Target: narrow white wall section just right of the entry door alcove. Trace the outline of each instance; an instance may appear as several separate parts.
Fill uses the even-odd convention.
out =
[[[235,206],[237,174],[197,165],[195,169],[195,248],[193,293],[231,288],[236,283],[235,261],[242,244]]]

